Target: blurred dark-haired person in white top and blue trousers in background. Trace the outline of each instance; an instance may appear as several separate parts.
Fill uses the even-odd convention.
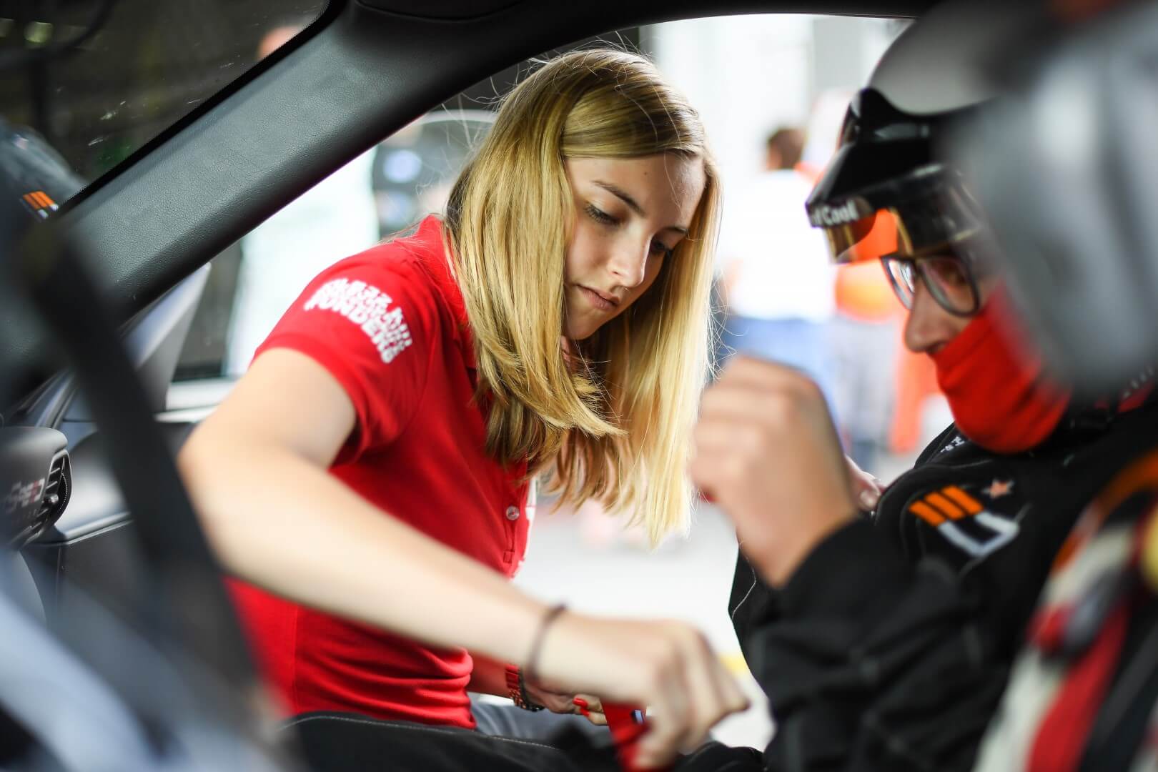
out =
[[[802,167],[804,132],[780,127],[764,169],[728,197],[717,259],[726,309],[724,355],[740,351],[807,373],[833,399],[834,270],[804,201],[815,172]]]

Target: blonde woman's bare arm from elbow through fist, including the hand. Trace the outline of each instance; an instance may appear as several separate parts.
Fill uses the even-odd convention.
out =
[[[243,434],[219,436],[195,433],[178,463],[210,543],[237,575],[525,671],[537,646],[535,675],[558,691],[532,697],[551,709],[567,712],[576,692],[654,708],[644,740],[651,745],[640,747],[652,764],[745,706],[706,640],[687,625],[564,613],[543,626],[544,604],[383,514],[324,466],[276,443],[233,441]]]

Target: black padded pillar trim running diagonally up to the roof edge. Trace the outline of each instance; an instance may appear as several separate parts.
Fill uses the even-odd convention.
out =
[[[696,16],[800,13],[910,17],[922,0],[331,0],[272,64],[90,186],[54,219],[85,245],[116,321],[127,319],[346,161],[467,87],[614,29]],[[372,6],[378,6],[372,7]],[[464,10],[486,10],[464,17]],[[437,17],[435,17],[437,16]],[[9,373],[52,369],[36,325],[12,319]]]

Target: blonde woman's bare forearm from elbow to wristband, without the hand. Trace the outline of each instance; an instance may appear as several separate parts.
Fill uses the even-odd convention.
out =
[[[267,443],[190,439],[178,459],[232,573],[432,646],[526,664],[544,605]]]

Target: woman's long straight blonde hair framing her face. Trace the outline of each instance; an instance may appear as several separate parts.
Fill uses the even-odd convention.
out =
[[[673,153],[706,184],[688,236],[630,308],[560,347],[574,203],[564,161]],[[488,451],[554,462],[560,502],[594,498],[652,541],[687,528],[686,476],[709,367],[719,178],[698,113],[646,59],[615,50],[542,65],[503,102],[460,175],[444,231],[475,338]],[[576,361],[578,360],[578,366]]]

